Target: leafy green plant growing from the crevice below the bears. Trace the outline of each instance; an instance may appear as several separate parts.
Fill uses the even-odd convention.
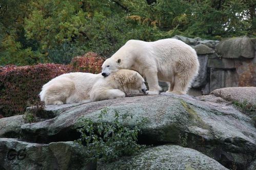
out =
[[[91,119],[81,119],[81,127],[78,132],[81,138],[76,142],[85,145],[87,158],[89,161],[101,159],[104,162],[110,162],[121,156],[129,156],[140,152],[145,145],[136,143],[137,136],[141,132],[140,126],[144,124],[144,120],[137,121],[137,126],[128,128],[121,122],[125,122],[131,115],[120,115],[115,111],[114,121],[104,122],[103,117],[107,110],[102,110],[95,123]]]

